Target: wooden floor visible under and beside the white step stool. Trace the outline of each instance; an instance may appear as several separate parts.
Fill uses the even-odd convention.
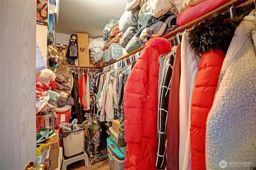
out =
[[[108,164],[108,158],[92,164],[90,168],[85,168],[84,160],[79,160],[67,166],[67,170],[110,170]]]

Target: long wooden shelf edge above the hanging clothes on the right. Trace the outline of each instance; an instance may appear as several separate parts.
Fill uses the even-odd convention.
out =
[[[168,41],[173,40],[172,37],[175,36],[176,34],[182,33],[184,30],[190,29],[194,25],[198,25],[200,22],[202,22],[203,20],[205,20],[207,18],[210,18],[215,13],[226,12],[226,11],[229,10],[229,8],[231,6],[238,6],[238,5],[241,5],[241,4],[242,5],[248,5],[248,4],[251,4],[251,3],[253,3],[253,0],[246,0],[246,1],[245,0],[229,0],[225,4],[219,6],[218,8],[216,8],[216,9],[214,9],[214,10],[212,10],[212,11],[210,11],[210,12],[208,12],[208,13],[202,15],[202,16],[200,16],[200,18],[196,18],[196,19],[194,19],[194,20],[184,24],[183,26],[180,26],[180,27],[176,28],[175,30],[173,30],[171,32],[168,32],[167,34],[165,34],[162,37],[166,38]],[[182,34],[179,34],[179,37],[181,37],[181,36],[182,36]],[[126,55],[123,55],[122,57],[120,57],[120,58],[118,58],[118,59],[116,59],[116,60],[114,60],[114,61],[112,61],[110,63],[106,63],[104,65],[104,67],[107,66],[107,65],[110,65],[112,63],[115,63],[117,61],[120,61],[122,59],[125,59],[125,58],[129,57],[130,55],[135,54],[138,51],[141,51],[143,48],[144,48],[144,46],[141,46],[141,47],[135,49],[134,51],[132,51],[130,53],[127,53]]]

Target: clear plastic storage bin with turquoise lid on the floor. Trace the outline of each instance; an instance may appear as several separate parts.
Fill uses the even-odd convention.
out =
[[[111,138],[107,139],[108,159],[110,170],[123,170],[124,169],[124,156],[118,147],[112,142]]]

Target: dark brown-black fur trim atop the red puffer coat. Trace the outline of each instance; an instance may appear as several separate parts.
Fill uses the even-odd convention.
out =
[[[217,13],[200,22],[198,26],[194,26],[189,31],[188,40],[193,51],[198,55],[202,55],[210,49],[219,49],[226,53],[236,27],[254,8],[254,4],[233,7],[234,17],[232,19],[229,12]]]

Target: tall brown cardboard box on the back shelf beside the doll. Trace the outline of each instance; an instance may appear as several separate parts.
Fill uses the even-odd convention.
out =
[[[90,66],[89,37],[87,33],[77,33],[78,62],[80,66]]]

